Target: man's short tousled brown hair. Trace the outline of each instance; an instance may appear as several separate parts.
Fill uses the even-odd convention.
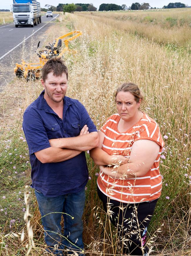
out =
[[[53,76],[61,76],[63,73],[66,74],[68,80],[68,68],[64,64],[64,61],[61,57],[53,57],[48,60],[42,69],[42,80],[45,81],[48,73],[53,72]]]

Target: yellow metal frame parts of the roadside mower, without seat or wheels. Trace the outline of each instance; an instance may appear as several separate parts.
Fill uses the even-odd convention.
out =
[[[75,34],[75,35],[73,35]],[[56,38],[56,42],[54,43],[54,47],[58,45],[58,40],[63,39],[65,37],[68,37],[70,35],[73,35],[72,37],[69,37],[64,40],[65,48],[61,50],[61,52],[58,54],[56,50],[53,52],[53,56],[61,57],[66,51],[75,53],[75,50],[71,50],[68,47],[68,43],[72,40],[74,40],[76,37],[82,35],[81,31],[73,30],[65,35],[62,35],[58,38]],[[51,50],[46,50],[47,54],[51,52]],[[16,67],[14,68],[14,73],[16,74],[18,70],[22,72],[22,76],[26,79],[29,75],[29,73],[33,73],[36,78],[41,78],[41,69],[44,66],[44,64],[48,61],[47,54],[41,54],[41,57],[39,57],[39,63],[26,63],[24,60],[22,60],[21,64],[16,63]]]

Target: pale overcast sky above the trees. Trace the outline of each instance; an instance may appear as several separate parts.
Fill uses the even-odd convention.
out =
[[[90,4],[90,3],[93,3],[93,5],[99,9],[99,6],[100,4],[118,4],[118,5],[122,5],[122,4],[126,4],[127,6],[131,6],[132,3],[135,3],[135,2],[139,2],[140,4],[142,4],[141,1],[138,1],[138,0],[135,0],[135,1],[129,1],[129,0],[120,0],[120,1],[117,1],[117,0],[38,0],[38,2],[40,2],[41,4],[41,8],[43,8],[45,6],[45,4],[50,4],[50,5],[54,5],[54,6],[57,6],[59,3],[61,4],[71,4],[71,3],[83,3],[83,4]],[[150,6],[152,7],[159,7],[159,8],[162,8],[164,5],[168,5],[169,3],[175,3],[175,2],[178,2],[177,0],[176,1],[172,1],[172,0],[148,0],[148,1],[144,1],[143,2],[146,2],[150,4]],[[189,6],[191,5],[191,0],[183,0],[183,1],[180,1],[181,3],[183,4],[188,4]],[[10,9],[10,5],[13,3],[12,0],[0,0],[0,9]]]

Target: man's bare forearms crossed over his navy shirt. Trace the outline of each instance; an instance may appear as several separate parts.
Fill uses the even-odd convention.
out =
[[[49,142],[51,147],[34,153],[43,164],[62,162],[93,149],[98,146],[99,138],[97,132],[89,133],[87,125],[84,125],[77,137],[51,139]]]

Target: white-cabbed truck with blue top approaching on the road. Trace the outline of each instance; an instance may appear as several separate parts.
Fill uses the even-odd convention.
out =
[[[15,27],[41,23],[41,6],[36,0],[13,0],[12,12]]]

